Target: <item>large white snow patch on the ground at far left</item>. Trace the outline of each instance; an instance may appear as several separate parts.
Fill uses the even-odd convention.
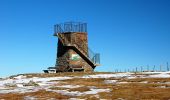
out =
[[[40,89],[50,88],[57,84],[59,80],[72,79],[72,77],[47,77],[47,78],[26,78],[25,76],[17,76],[14,79],[6,79],[0,81],[0,93],[25,93],[35,92]],[[57,80],[57,81],[56,81]],[[35,82],[38,86],[24,86],[30,81]]]

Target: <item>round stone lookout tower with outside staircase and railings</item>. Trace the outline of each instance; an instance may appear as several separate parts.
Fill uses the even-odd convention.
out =
[[[56,72],[92,72],[100,65],[100,54],[88,47],[86,23],[56,24],[54,30],[58,37]]]

